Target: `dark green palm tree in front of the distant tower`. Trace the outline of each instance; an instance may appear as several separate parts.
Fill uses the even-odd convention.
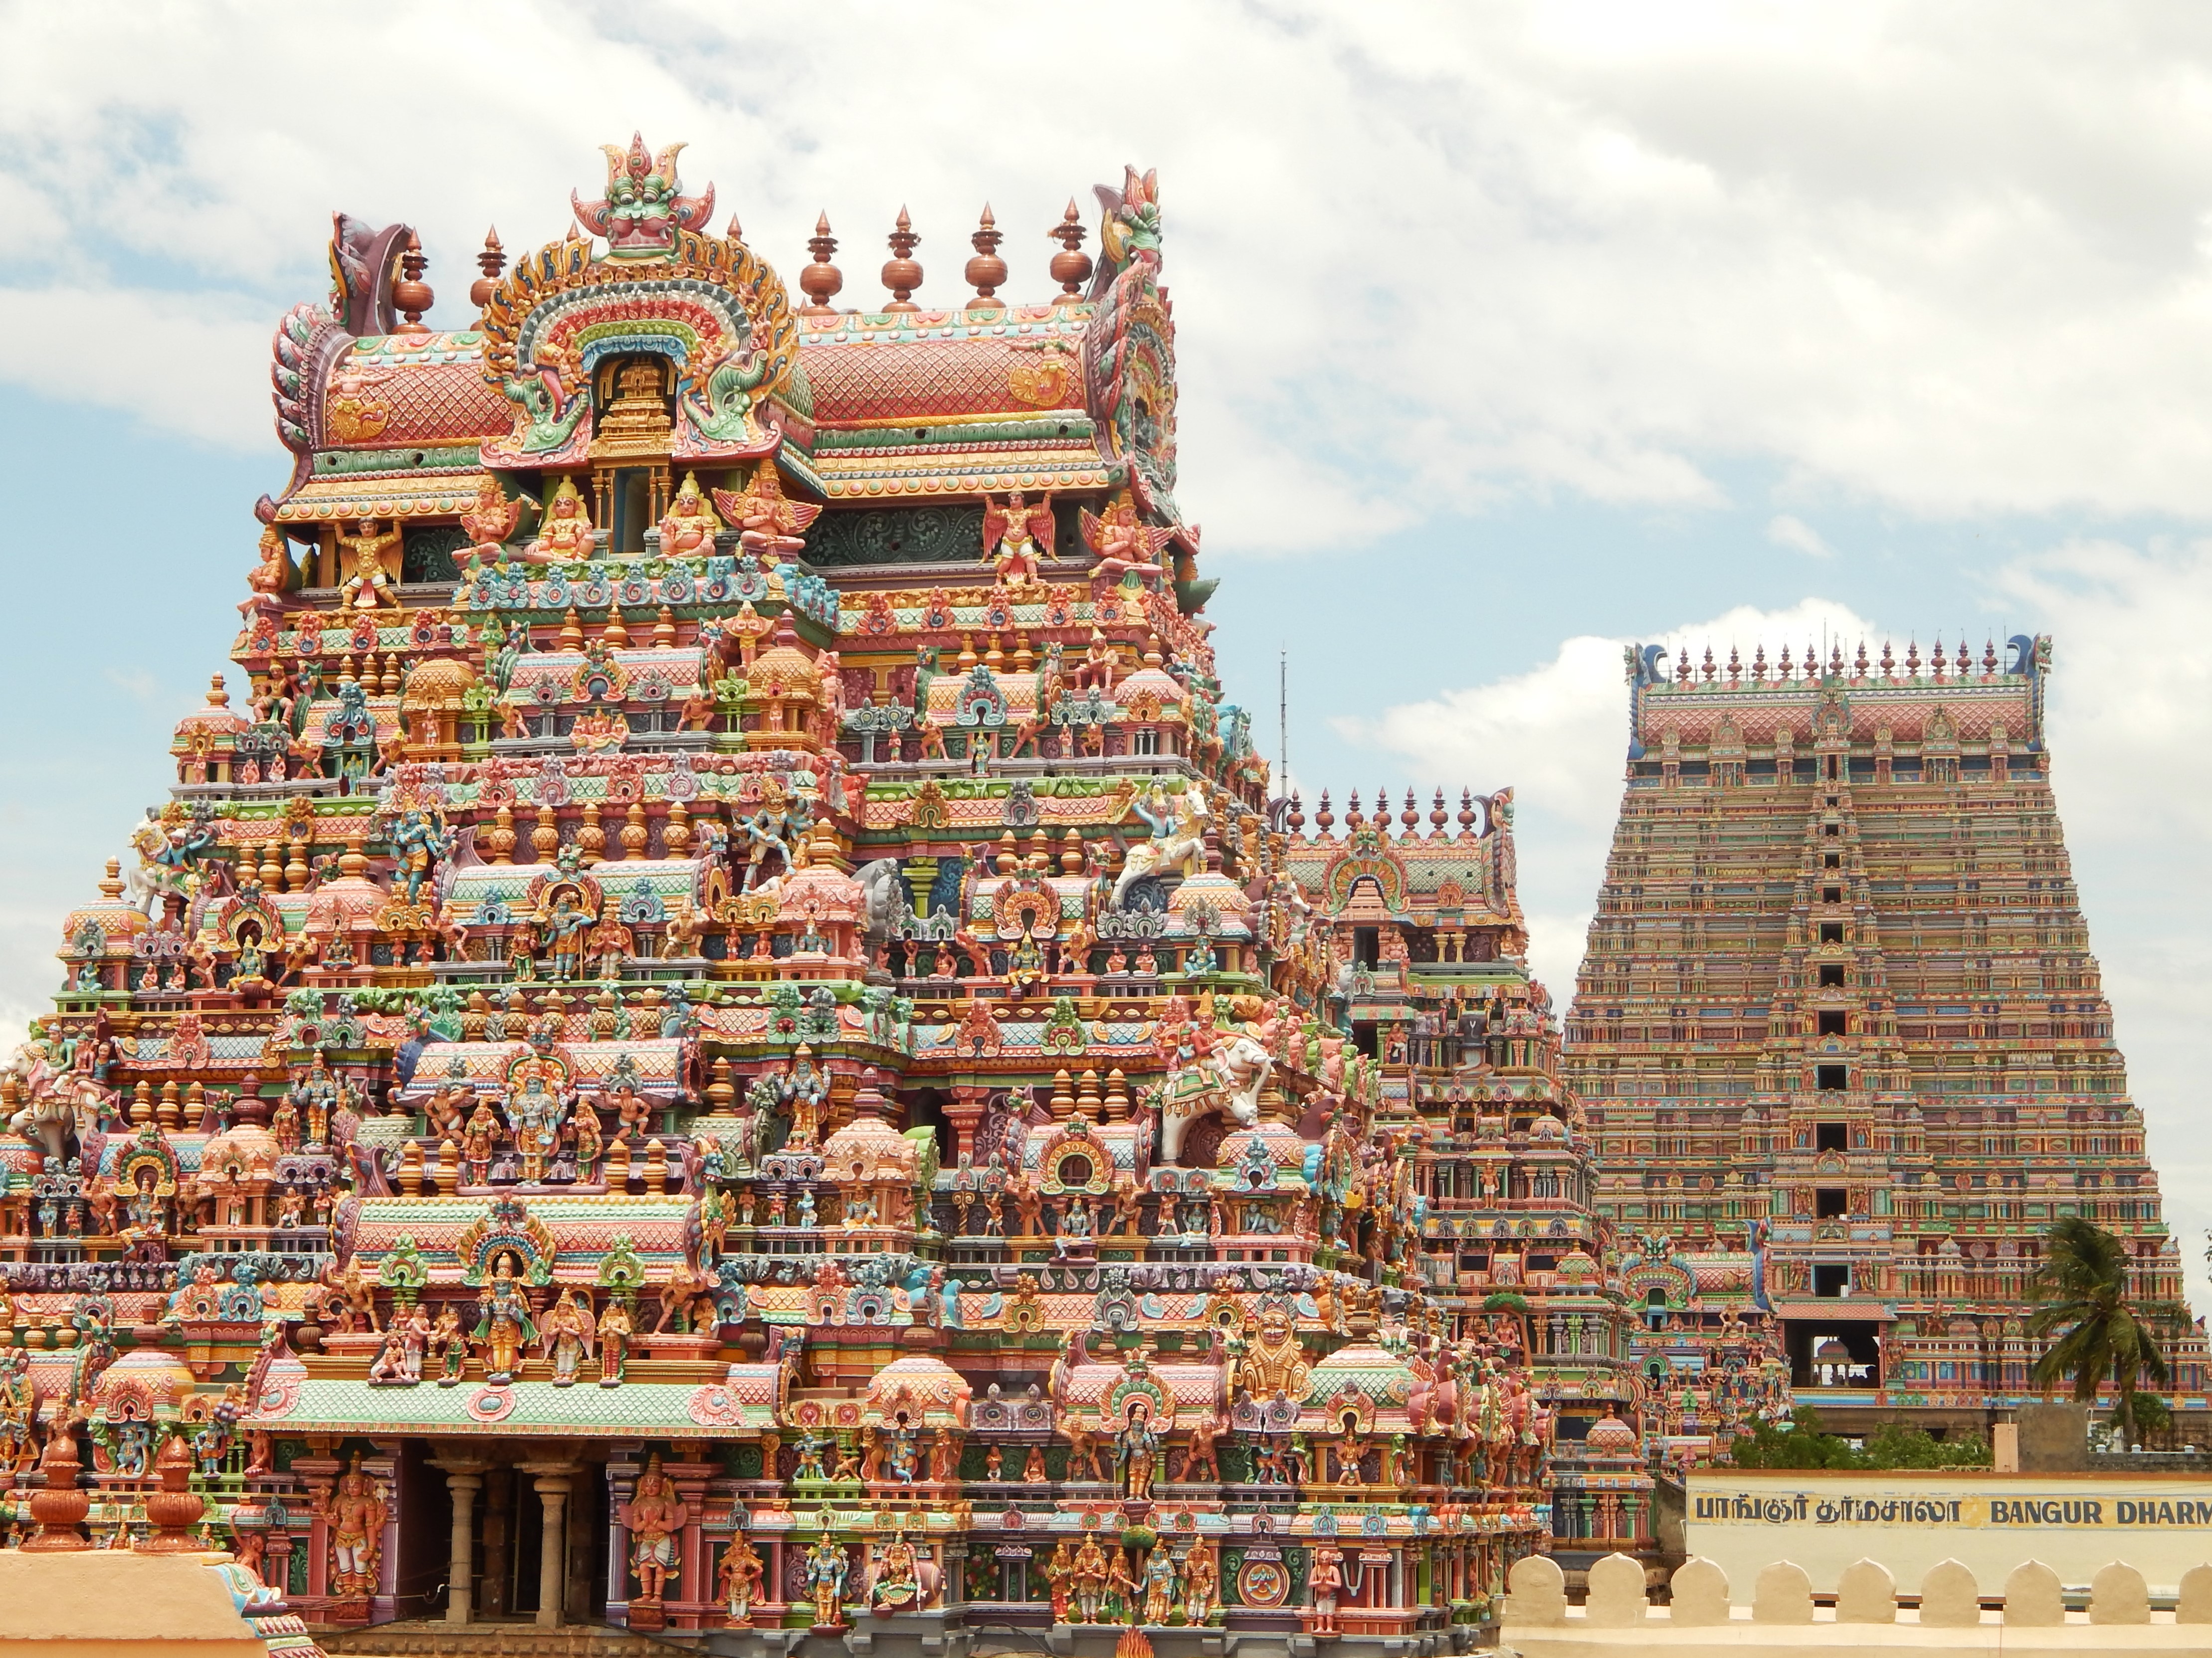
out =
[[[2028,1293],[2042,1302],[2028,1329],[2037,1335],[2064,1331],[2035,1360],[2033,1375],[2044,1399],[2070,1377],[2075,1404],[2093,1404],[2097,1388],[2110,1382],[2117,1393],[2112,1417],[2135,1439],[2141,1426],[2135,1388],[2143,1379],[2154,1386],[2168,1382],[2159,1340],[2188,1329],[2190,1311],[2179,1302],[2132,1300],[2128,1247],[2079,1216],[2044,1234],[2044,1265],[2028,1280]]]

